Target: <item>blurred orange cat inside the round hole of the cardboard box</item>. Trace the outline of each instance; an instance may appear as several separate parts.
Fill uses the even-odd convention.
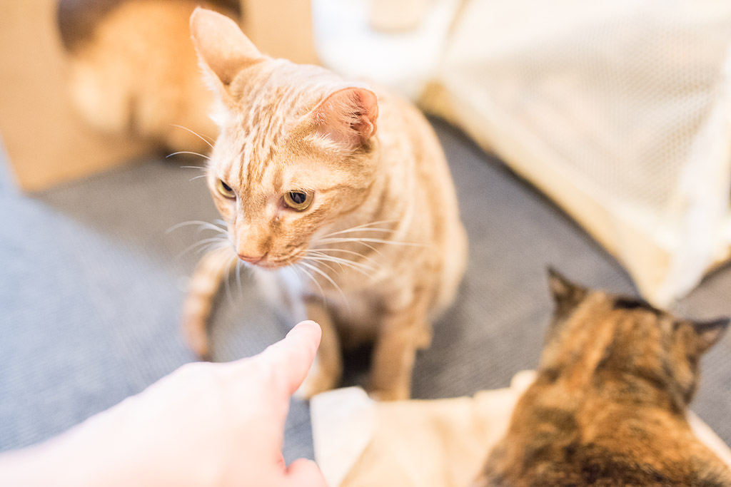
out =
[[[189,18],[200,4],[238,18],[238,1],[60,0],[72,103],[94,128],[203,152],[216,137],[213,96],[201,80]]]

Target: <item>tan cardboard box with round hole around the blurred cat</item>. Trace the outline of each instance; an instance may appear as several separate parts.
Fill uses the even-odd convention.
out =
[[[99,134],[77,115],[64,84],[56,4],[0,3],[0,134],[15,181],[26,191],[127,164],[153,149],[139,139]],[[309,0],[241,4],[244,31],[263,52],[317,61]]]

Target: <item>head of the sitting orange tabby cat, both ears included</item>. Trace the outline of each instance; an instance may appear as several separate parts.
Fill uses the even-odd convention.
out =
[[[319,66],[263,55],[211,10],[193,12],[191,32],[218,101],[208,185],[230,241],[244,261],[294,264],[368,196],[376,95]]]

